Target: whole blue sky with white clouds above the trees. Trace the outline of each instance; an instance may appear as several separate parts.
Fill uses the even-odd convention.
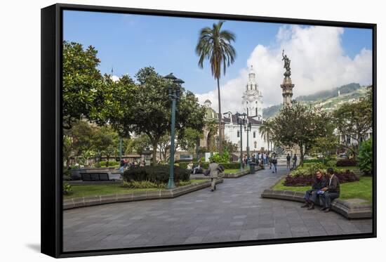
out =
[[[153,66],[173,72],[201,103],[217,109],[217,87],[208,64],[197,66],[194,48],[199,30],[217,20],[65,11],[64,39],[95,46],[100,71],[133,76]],[[264,107],[281,103],[281,51],[291,59],[294,97],[358,82],[371,84],[371,30],[227,21],[236,34],[237,59],[220,79],[222,111],[241,110],[248,68],[253,65]]]

